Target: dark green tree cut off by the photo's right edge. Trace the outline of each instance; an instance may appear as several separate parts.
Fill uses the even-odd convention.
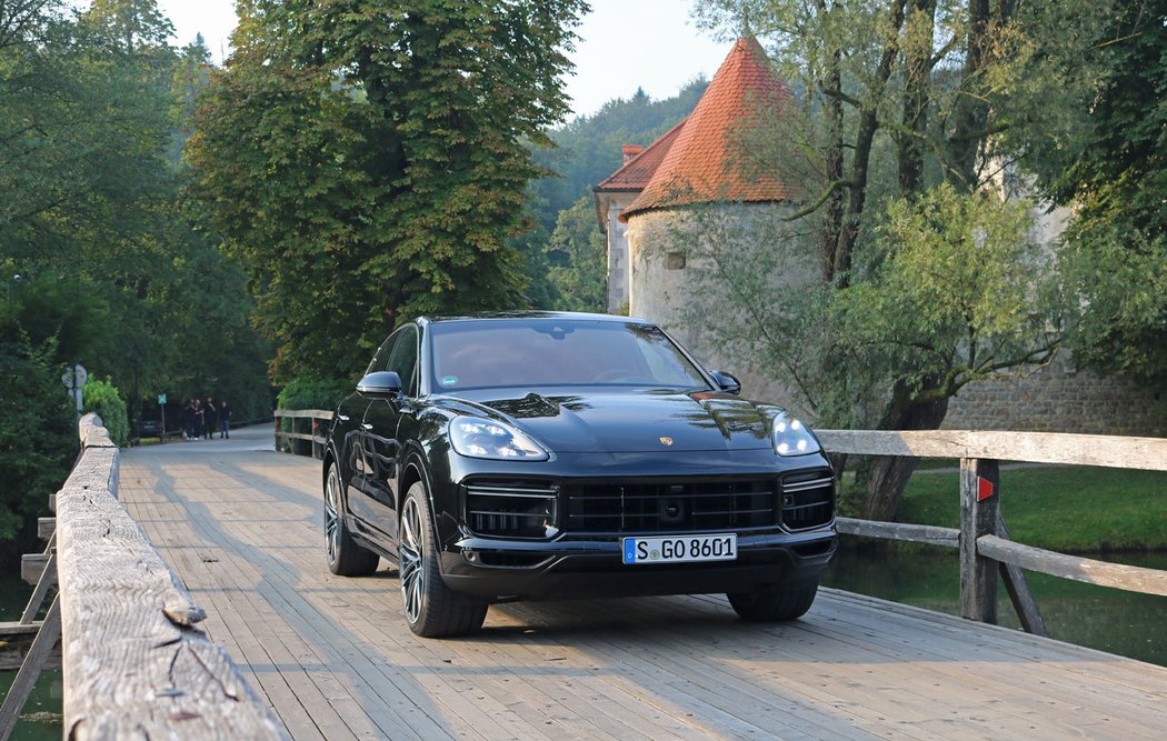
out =
[[[1041,180],[1075,205],[1063,251],[1079,363],[1167,383],[1167,2],[1124,4],[1106,74]]]

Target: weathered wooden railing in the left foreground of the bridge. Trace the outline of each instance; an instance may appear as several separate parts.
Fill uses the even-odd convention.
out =
[[[47,655],[60,636],[65,737],[288,737],[195,628],[204,610],[118,503],[118,448],[100,424],[82,418],[81,457],[55,495],[60,592],[28,655]],[[35,678],[39,666],[29,670]]]

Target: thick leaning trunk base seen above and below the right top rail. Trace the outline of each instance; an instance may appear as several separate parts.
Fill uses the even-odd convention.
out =
[[[924,390],[935,387],[937,379],[927,378]],[[948,399],[913,401],[913,389],[899,380],[880,424],[880,429],[938,429],[948,414]],[[920,463],[918,457],[881,456],[871,461],[864,497],[864,517],[890,522],[900,509],[900,496]]]

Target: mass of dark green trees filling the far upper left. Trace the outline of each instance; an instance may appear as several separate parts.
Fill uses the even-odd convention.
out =
[[[0,274],[12,336],[57,337],[53,363],[110,376],[132,410],[162,392],[223,393],[221,384],[237,410],[249,399],[268,410],[246,279],[181,198],[177,102],[198,82],[176,82],[168,21],[144,1],[76,16],[55,2],[26,9],[0,5]]]

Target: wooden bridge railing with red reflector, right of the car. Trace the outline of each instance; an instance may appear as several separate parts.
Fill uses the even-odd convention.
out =
[[[1000,461],[1167,470],[1167,439],[1028,432],[824,429],[830,453],[960,460],[960,527],[838,518],[840,533],[911,540],[960,551],[960,614],[997,622],[997,574],[1021,625],[1047,635],[1022,569],[1144,594],[1167,595],[1167,572],[1109,564],[1009,540],[1000,513]]]

